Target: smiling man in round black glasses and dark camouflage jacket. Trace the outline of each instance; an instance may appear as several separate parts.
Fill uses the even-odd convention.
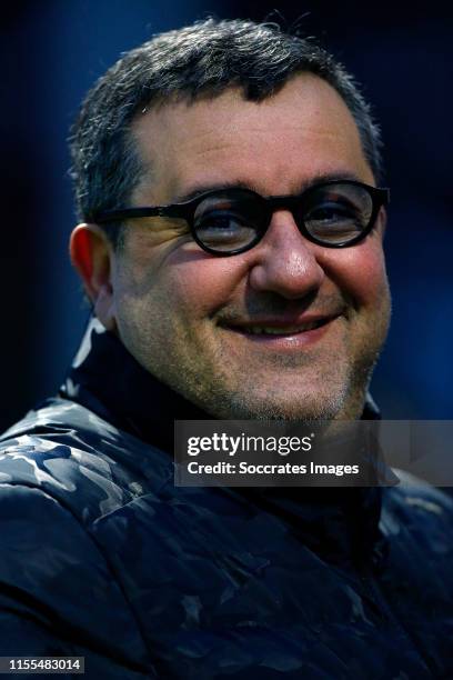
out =
[[[2,654],[92,678],[447,678],[452,507],[427,487],[175,488],[175,419],[378,418],[380,136],[273,26],[128,53],[72,151],[93,308],[56,399],[3,436]]]

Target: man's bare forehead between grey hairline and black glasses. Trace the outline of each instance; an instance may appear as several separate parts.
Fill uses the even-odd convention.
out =
[[[164,103],[134,121],[133,136],[145,169],[135,203],[171,202],[222,182],[269,196],[299,191],[318,176],[373,181],[346,104],[309,73],[261,102],[229,89]]]

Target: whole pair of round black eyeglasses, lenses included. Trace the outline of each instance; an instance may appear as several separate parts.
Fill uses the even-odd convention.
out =
[[[92,221],[102,224],[144,217],[182,218],[203,250],[233,256],[256,246],[275,210],[289,210],[306,239],[326,248],[345,248],[371,232],[380,208],[389,200],[389,189],[329,180],[312,184],[300,196],[264,198],[249,189],[221,189],[172,206],[99,212]]]

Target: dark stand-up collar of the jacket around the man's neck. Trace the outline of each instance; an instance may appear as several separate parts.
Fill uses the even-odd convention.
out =
[[[90,319],[60,396],[169,454],[174,420],[211,417],[148,373],[121,341]],[[379,419],[368,398],[362,418]],[[234,489],[292,524],[308,547],[333,561],[376,562],[380,488]]]

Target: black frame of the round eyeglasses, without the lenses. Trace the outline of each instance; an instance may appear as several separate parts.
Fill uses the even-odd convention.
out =
[[[321,239],[316,239],[316,237],[314,237],[308,230],[304,221],[295,218],[294,212],[296,209],[298,210],[303,209],[303,203],[306,201],[306,198],[310,196],[312,191],[318,190],[320,187],[329,187],[329,186],[334,186],[334,184],[349,184],[349,186],[360,187],[361,189],[364,189],[371,197],[372,210],[371,210],[369,223],[360,234],[358,234],[356,237],[354,237],[353,239],[349,241],[343,241],[339,243],[326,243],[325,241],[322,241]],[[197,208],[203,200],[205,200],[209,197],[218,196],[219,193],[228,192],[228,191],[241,191],[243,193],[249,193],[254,197],[258,197],[261,202],[264,201],[264,203],[262,204],[265,204],[266,207],[269,207],[268,208],[269,221],[266,222],[265,226],[261,226],[261,224],[256,226],[256,237],[246,246],[242,246],[241,248],[236,248],[235,250],[223,251],[223,250],[215,250],[213,248],[210,248],[209,246],[207,246],[199,239],[197,234],[197,229],[194,226],[194,217],[195,217]],[[326,181],[316,182],[314,184],[311,184],[304,191],[302,191],[302,193],[288,194],[288,196],[264,197],[258,193],[256,191],[253,191],[252,189],[240,188],[240,187],[238,188],[225,187],[224,189],[219,189],[219,188],[211,189],[210,191],[204,191],[195,196],[194,198],[188,201],[182,201],[180,203],[170,203],[168,206],[143,206],[143,207],[137,207],[137,208],[124,208],[124,209],[118,209],[118,210],[105,210],[105,211],[94,212],[91,216],[90,221],[97,224],[103,224],[105,222],[118,222],[118,221],[123,221],[128,219],[137,219],[137,218],[145,218],[145,217],[183,219],[189,224],[191,236],[193,240],[200,246],[200,248],[202,248],[205,252],[209,252],[211,254],[229,257],[229,256],[234,256],[234,254],[240,254],[242,252],[246,252],[248,250],[251,250],[252,248],[254,248],[262,240],[265,232],[268,231],[271,224],[271,221],[272,221],[272,216],[276,210],[289,210],[293,217],[293,220],[300,233],[304,238],[306,238],[309,241],[311,241],[312,243],[316,243],[316,246],[322,246],[323,248],[349,248],[350,246],[355,246],[355,243],[363,241],[369,236],[369,233],[374,229],[379,211],[381,210],[383,206],[387,206],[389,202],[390,202],[390,189],[389,188],[372,187],[370,184],[365,184],[364,182],[360,182],[360,181],[351,180],[351,179],[344,179],[344,180],[332,179],[332,180],[326,180]]]

